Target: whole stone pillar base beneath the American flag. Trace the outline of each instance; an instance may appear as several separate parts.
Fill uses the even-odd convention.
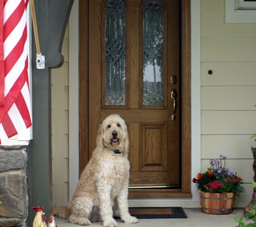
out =
[[[27,146],[0,146],[0,227],[25,226]]]

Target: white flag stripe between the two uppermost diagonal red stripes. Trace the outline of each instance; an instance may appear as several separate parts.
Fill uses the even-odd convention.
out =
[[[19,23],[12,30],[10,35],[4,41],[4,60],[10,54],[12,49],[17,45],[20,38],[22,38],[23,31],[26,26],[26,13],[24,11],[22,18],[20,19]]]

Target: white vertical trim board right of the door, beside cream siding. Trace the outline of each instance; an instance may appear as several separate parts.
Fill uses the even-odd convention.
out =
[[[191,179],[201,171],[201,30],[200,0],[191,0]],[[192,201],[199,201],[191,182]]]

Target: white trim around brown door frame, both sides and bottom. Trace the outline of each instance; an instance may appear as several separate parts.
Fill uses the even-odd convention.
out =
[[[79,115],[78,115],[78,56],[79,56],[79,1],[75,0],[70,15],[70,201],[79,175]],[[200,0],[191,1],[191,178],[200,172],[201,132],[200,132]],[[75,106],[73,106],[75,104]],[[192,185],[192,199],[184,198],[130,198],[129,205],[141,202],[163,200],[168,205],[199,207],[199,196]],[[165,204],[166,205],[166,204]]]

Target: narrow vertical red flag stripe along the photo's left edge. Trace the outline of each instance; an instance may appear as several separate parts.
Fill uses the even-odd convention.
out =
[[[4,3],[0,1],[0,106],[4,104],[4,36],[3,36],[3,9]]]

